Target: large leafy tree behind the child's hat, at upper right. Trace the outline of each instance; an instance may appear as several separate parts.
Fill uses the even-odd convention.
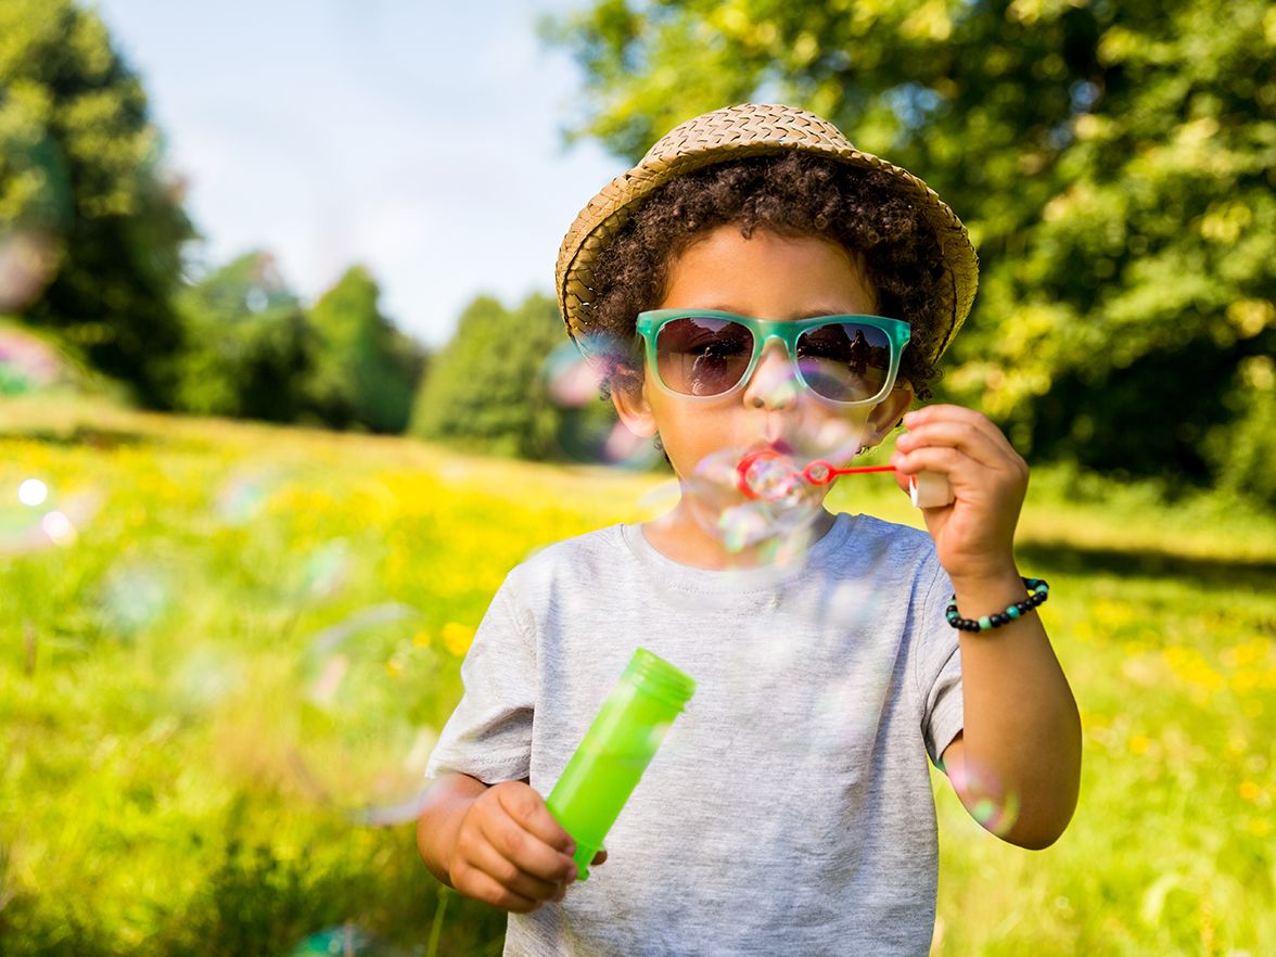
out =
[[[586,73],[570,135],[630,160],[778,98],[917,172],[983,259],[946,397],[1039,459],[1221,477],[1221,397],[1276,351],[1270,4],[600,0],[545,32]]]

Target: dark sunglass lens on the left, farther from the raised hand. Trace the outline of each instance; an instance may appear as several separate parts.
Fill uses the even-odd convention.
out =
[[[671,319],[656,334],[660,380],[683,396],[721,396],[753,359],[753,333],[730,319]]]

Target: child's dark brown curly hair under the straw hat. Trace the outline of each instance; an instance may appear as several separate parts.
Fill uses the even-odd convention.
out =
[[[638,313],[664,299],[672,264],[704,232],[735,223],[748,239],[762,227],[817,236],[859,262],[882,315],[912,327],[900,378],[919,398],[939,378],[930,355],[943,329],[937,291],[944,282],[939,239],[889,174],[800,152],[732,160],[675,176],[639,205],[593,271],[591,338],[634,343]],[[612,356],[607,376],[641,370],[641,351]]]

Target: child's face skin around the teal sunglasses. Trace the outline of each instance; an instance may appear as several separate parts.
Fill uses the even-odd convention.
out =
[[[814,236],[768,230],[750,239],[738,226],[704,234],[671,265],[657,309],[711,309],[778,322],[874,314],[877,297],[845,249]],[[644,371],[641,393],[618,389],[616,408],[639,435],[658,433],[679,476],[721,449],[780,447],[800,461],[838,457],[874,445],[898,421],[912,394],[891,392],[874,407],[838,407],[795,378],[785,347],[767,343],[752,379],[721,401],[670,394]]]

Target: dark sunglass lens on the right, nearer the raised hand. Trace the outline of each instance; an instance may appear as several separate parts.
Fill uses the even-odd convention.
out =
[[[891,374],[886,332],[859,323],[828,323],[798,337],[798,367],[806,384],[835,402],[863,402]]]

